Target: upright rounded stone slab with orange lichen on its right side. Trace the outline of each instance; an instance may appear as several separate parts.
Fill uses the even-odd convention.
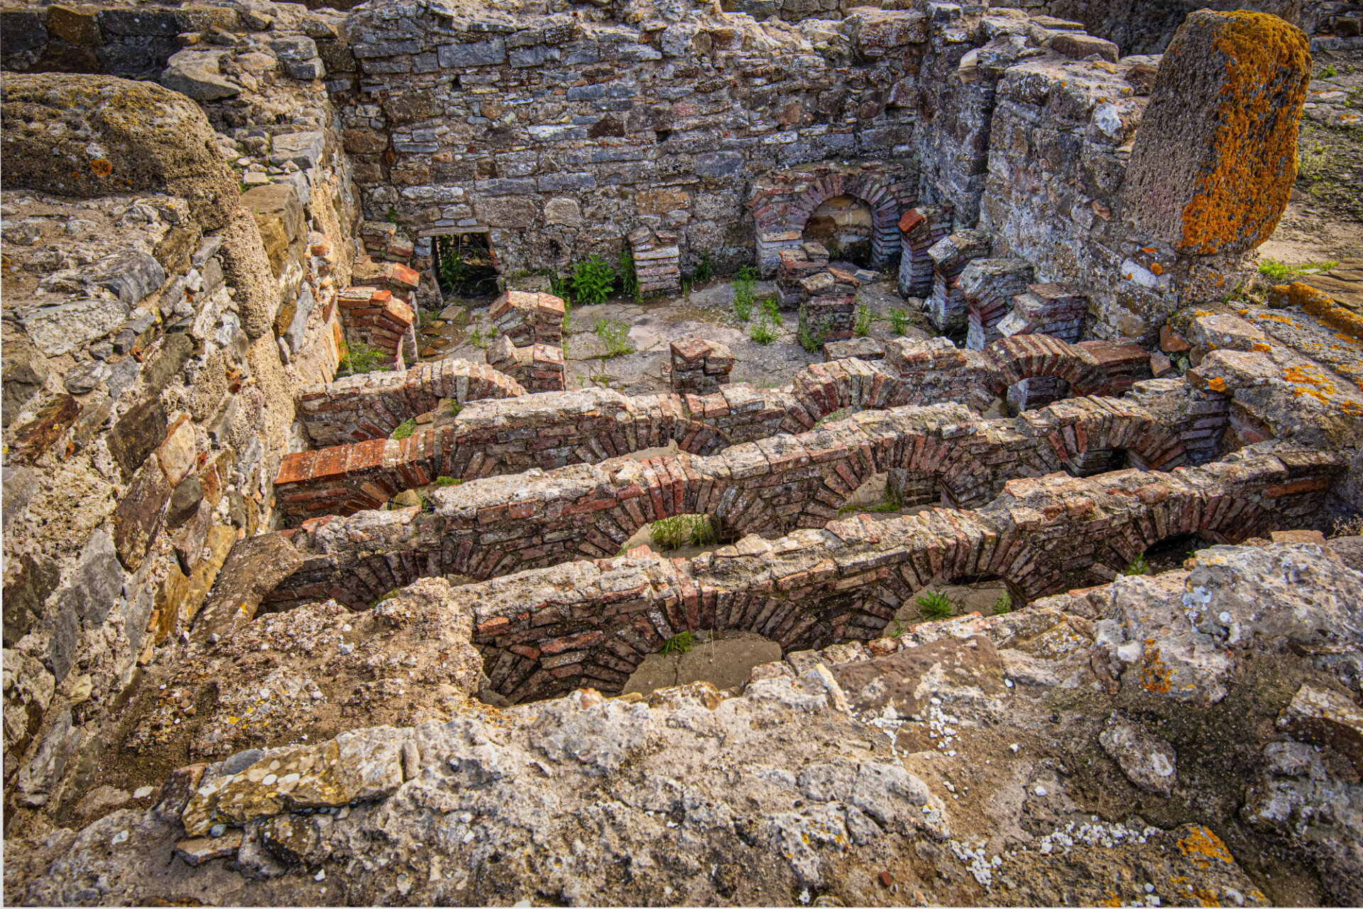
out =
[[[1123,191],[1145,237],[1187,255],[1253,249],[1296,177],[1311,78],[1300,29],[1262,12],[1189,15],[1160,63]]]

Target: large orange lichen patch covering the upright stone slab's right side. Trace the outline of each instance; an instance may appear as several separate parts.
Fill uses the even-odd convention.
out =
[[[1219,14],[1225,55],[1216,157],[1183,206],[1187,252],[1257,247],[1277,228],[1296,179],[1296,129],[1311,72],[1300,29],[1264,12]]]

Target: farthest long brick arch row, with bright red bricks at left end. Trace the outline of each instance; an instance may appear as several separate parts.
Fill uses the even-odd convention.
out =
[[[446,365],[440,371],[451,372]],[[286,455],[275,488],[289,526],[298,526],[324,514],[378,508],[399,491],[439,476],[477,480],[530,467],[600,463],[669,442],[683,451],[709,455],[736,442],[803,432],[844,407],[960,401],[984,410],[992,394],[1014,382],[1050,375],[1070,380],[1075,392],[1107,394],[1115,384],[1088,350],[1045,335],[1007,338],[984,353],[901,338],[891,342],[886,360],[811,364],[795,376],[789,390],[733,384],[705,397],[627,398],[589,388],[506,399],[500,386],[474,376],[458,384],[450,378],[446,384],[451,390],[458,386],[466,395],[461,401],[470,401],[455,425],[409,439],[375,439]],[[435,387],[438,378],[397,382],[398,392],[405,388],[405,394],[388,392],[382,383],[372,395],[367,386],[360,398],[346,390],[349,397],[337,395],[327,406],[349,414],[356,401],[373,398],[386,412],[406,406],[413,414],[421,413],[438,401],[425,390]],[[474,395],[503,399],[473,401]],[[316,409],[322,403],[311,398],[300,406]],[[1174,467],[1183,457],[1175,448],[1149,454],[1153,461],[1139,462],[1149,467]]]

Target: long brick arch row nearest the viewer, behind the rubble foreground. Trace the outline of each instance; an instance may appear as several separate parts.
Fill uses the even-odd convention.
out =
[[[748,536],[691,560],[641,548],[466,585],[455,596],[477,615],[474,639],[504,696],[579,685],[613,692],[682,630],[741,628],[786,651],[818,649],[879,636],[898,605],[931,583],[998,576],[1032,600],[1111,581],[1168,537],[1238,542],[1298,526],[1341,470],[1333,455],[1259,443],[1172,474],[1011,480],[976,511],[885,522],[860,515],[771,541]],[[454,537],[439,523],[408,515],[346,531],[388,548],[360,571],[397,587],[446,568]]]

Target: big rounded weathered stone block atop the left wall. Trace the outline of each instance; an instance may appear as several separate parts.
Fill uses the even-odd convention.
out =
[[[222,228],[239,184],[203,110],[144,82],[87,75],[8,74],[7,187],[104,196],[158,189],[181,196],[204,230]],[[79,132],[67,125],[83,124]]]

